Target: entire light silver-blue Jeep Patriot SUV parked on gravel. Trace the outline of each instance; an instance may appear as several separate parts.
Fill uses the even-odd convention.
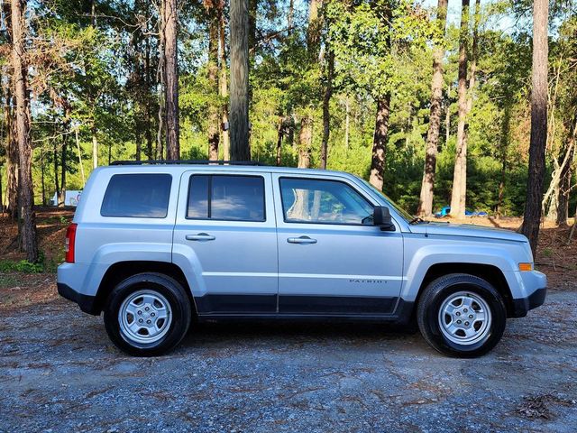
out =
[[[427,223],[348,173],[115,163],[93,171],[58,290],[132,355],[230,318],[415,320],[445,355],[495,346],[545,301],[527,238]]]

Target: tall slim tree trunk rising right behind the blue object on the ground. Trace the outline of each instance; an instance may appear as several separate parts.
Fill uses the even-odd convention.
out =
[[[465,194],[467,190],[467,39],[469,0],[463,0],[461,10],[461,34],[459,38],[459,123],[457,124],[457,145],[453,170],[453,191],[451,195],[451,216],[464,217]],[[464,173],[464,176],[463,176]]]

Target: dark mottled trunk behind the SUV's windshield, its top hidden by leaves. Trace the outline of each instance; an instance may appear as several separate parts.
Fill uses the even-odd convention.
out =
[[[389,134],[390,94],[377,101],[377,119],[372,138],[371,176],[369,181],[376,189],[382,191],[387,139]]]

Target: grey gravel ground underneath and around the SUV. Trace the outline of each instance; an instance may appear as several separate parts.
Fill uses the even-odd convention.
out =
[[[117,351],[63,299],[0,311],[0,431],[560,431],[577,423],[577,297],[552,291],[490,355],[380,326],[206,324]]]

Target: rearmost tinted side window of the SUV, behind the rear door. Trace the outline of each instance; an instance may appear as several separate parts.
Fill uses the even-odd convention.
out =
[[[114,174],[100,208],[103,217],[164,218],[169,211],[169,174]]]

